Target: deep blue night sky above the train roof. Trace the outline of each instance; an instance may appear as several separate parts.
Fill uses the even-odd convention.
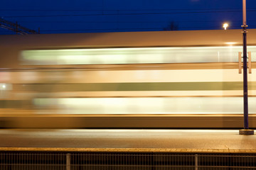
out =
[[[230,29],[242,25],[242,0],[4,0],[0,16],[41,33]],[[247,0],[247,25],[256,28],[256,1]],[[0,34],[11,31],[0,28]]]

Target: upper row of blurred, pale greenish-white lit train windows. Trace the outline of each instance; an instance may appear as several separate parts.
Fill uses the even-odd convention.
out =
[[[138,47],[104,49],[23,50],[21,64],[151,64],[238,62],[240,46]],[[248,47],[256,53],[256,46]],[[256,59],[252,59],[256,62]]]

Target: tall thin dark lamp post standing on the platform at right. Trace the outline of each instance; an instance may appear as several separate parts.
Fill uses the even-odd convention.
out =
[[[244,129],[239,130],[240,135],[253,135],[254,130],[249,130],[248,124],[248,88],[247,88],[247,25],[246,25],[246,0],[242,0],[242,54],[243,54],[243,96],[244,96]]]

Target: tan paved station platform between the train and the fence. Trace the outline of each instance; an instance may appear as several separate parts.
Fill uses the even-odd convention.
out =
[[[0,150],[253,152],[239,130],[0,130]]]

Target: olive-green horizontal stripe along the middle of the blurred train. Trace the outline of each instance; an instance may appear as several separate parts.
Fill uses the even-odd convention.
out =
[[[140,82],[85,84],[14,84],[16,91],[234,91],[242,90],[242,81],[228,82]],[[248,83],[249,90],[256,82]]]

